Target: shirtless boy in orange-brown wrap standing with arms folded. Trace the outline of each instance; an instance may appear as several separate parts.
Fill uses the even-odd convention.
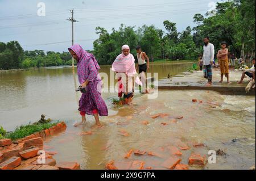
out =
[[[217,58],[218,62],[220,64],[220,70],[221,70],[221,80],[220,82],[223,82],[223,75],[225,74],[225,77],[227,79],[227,82],[229,82],[229,59],[228,59],[228,53],[229,49],[226,48],[226,42],[221,42],[221,49],[218,50]]]

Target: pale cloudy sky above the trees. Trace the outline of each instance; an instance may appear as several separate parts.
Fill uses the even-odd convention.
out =
[[[46,16],[38,16],[39,2],[46,5]],[[164,20],[177,24],[177,30],[194,27],[193,15],[205,14],[220,0],[0,0],[0,41],[17,40],[25,50],[67,51],[71,45],[71,16],[74,9],[75,43],[93,49],[97,26],[109,32],[121,23],[140,27],[154,24],[163,27]]]

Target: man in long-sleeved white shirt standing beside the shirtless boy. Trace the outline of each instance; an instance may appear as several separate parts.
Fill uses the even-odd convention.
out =
[[[214,59],[214,45],[209,43],[209,37],[204,38],[204,77],[208,79],[206,86],[212,85],[212,64]]]

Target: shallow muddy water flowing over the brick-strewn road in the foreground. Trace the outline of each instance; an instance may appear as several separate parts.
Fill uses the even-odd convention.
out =
[[[193,103],[194,98],[203,103]],[[145,162],[145,167],[165,169],[162,163],[171,156],[170,148],[182,145],[191,148],[179,149],[182,155],[178,158],[184,164],[188,164],[191,153],[208,158],[209,150],[221,149],[227,154],[217,155],[216,164],[189,169],[249,169],[255,164],[255,97],[224,96],[213,91],[160,91],[154,101],[143,95],[134,103],[112,106],[114,115],[101,119],[102,128],[92,128],[92,116],[79,128],[68,122],[67,131],[50,138],[46,145],[58,152],[57,160],[77,161],[82,169],[104,169],[112,160],[120,168],[139,160]],[[167,116],[153,119],[156,113]],[[183,118],[176,118],[180,116]],[[88,131],[92,134],[79,135]],[[122,135],[124,131],[128,136]],[[238,141],[232,142],[234,138]],[[198,143],[205,146],[193,146]],[[132,154],[125,159],[130,149],[152,151],[158,156]]]

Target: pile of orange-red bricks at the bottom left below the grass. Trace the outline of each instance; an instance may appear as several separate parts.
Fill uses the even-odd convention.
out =
[[[43,150],[43,139],[65,131],[64,122],[16,141],[0,140],[0,170],[79,170],[77,162],[56,164],[53,151]]]

